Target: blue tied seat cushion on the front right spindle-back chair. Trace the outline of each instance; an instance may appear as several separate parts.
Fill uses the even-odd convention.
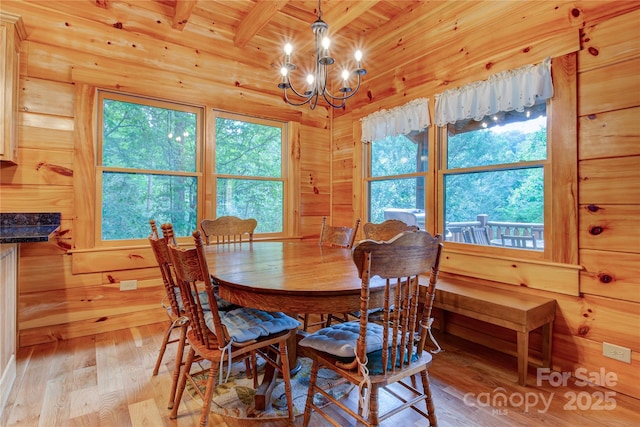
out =
[[[382,350],[382,333],[382,326],[367,323],[367,353]],[[337,357],[353,358],[359,335],[359,322],[337,323],[304,337],[299,344]]]

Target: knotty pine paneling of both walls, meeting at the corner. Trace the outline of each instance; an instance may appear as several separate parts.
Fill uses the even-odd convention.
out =
[[[160,308],[163,289],[148,248],[101,251],[87,238],[93,232],[94,208],[86,194],[93,179],[94,137],[86,124],[96,87],[292,123],[292,158],[299,162],[294,228],[296,234],[310,236],[317,234],[324,215],[337,225],[352,224],[361,215],[360,118],[423,96],[431,98],[433,107],[433,95],[448,87],[578,51],[579,250],[568,255],[584,266],[581,294],[521,292],[558,301],[556,369],[604,367],[618,375],[614,390],[640,397],[638,2],[519,2],[517,13],[508,17],[500,13],[502,2],[433,2],[441,19],[428,25],[416,16],[432,7],[425,2],[396,23],[406,28],[403,37],[371,33],[372,43],[388,54],[367,66],[361,93],[339,111],[286,107],[271,90],[225,84],[206,71],[243,75],[252,72],[253,64],[264,74],[259,67],[269,58],[237,64],[209,52],[196,54],[179,44],[175,34],[163,39],[161,34],[96,28],[90,20],[46,9],[44,3],[2,6],[23,16],[29,32],[21,56],[19,165],[0,169],[2,210],[62,213],[54,241],[21,247],[20,345],[165,316]],[[60,10],[109,13],[94,10],[91,2],[68,3]],[[194,67],[194,62],[203,66]],[[434,137],[432,129],[430,140]],[[433,152],[433,142],[430,147]],[[428,206],[434,207],[432,199]],[[604,232],[594,235],[596,226]],[[434,230],[435,223],[427,227]],[[103,259],[108,267],[95,271],[92,265]],[[139,289],[120,292],[118,282],[129,279],[138,280]],[[461,317],[451,316],[449,324],[450,332],[487,345],[513,340],[504,331]],[[631,348],[633,363],[604,358],[603,341]]]

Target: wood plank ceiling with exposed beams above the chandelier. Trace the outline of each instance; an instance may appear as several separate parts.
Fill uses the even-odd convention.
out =
[[[11,1],[11,0],[7,0]],[[219,75],[212,80],[278,94],[283,47],[294,47],[293,61],[300,71],[313,63],[313,33],[317,0],[83,0],[30,1],[47,10],[71,16],[95,28],[116,28],[128,37],[148,36],[156,40],[210,53],[221,58]],[[378,47],[388,48],[393,37],[402,40],[400,27],[419,0],[322,0],[322,18],[329,25],[336,75],[342,66],[355,68],[353,53],[362,49],[362,64],[369,72]],[[436,2],[440,3],[440,2]],[[422,13],[420,14],[421,19]],[[53,18],[52,15],[52,19]],[[400,43],[400,42],[398,42]],[[170,48],[168,48],[170,51]],[[197,63],[193,64],[198,66]],[[233,80],[232,80],[233,79]]]

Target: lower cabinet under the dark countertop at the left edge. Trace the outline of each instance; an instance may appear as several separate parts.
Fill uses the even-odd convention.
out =
[[[0,245],[0,414],[16,378],[18,245]]]

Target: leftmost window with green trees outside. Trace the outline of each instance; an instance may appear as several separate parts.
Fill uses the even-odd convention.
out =
[[[98,99],[98,240],[146,238],[150,219],[191,235],[202,110],[109,92]]]

